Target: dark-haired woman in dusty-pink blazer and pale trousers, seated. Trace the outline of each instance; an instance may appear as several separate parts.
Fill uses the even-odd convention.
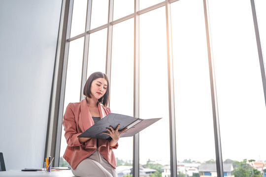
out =
[[[106,107],[109,101],[109,81],[106,74],[95,72],[88,78],[83,94],[85,99],[69,103],[63,119],[67,142],[64,158],[77,177],[117,177],[116,160],[112,149],[118,147],[120,135],[127,128],[118,131],[110,127],[107,133],[112,139],[78,138],[81,133],[110,113]],[[102,104],[102,105],[101,105]]]

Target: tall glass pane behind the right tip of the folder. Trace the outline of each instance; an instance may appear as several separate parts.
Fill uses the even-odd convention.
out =
[[[139,160],[161,174],[170,163],[165,7],[139,20],[139,118],[162,118],[140,132]]]

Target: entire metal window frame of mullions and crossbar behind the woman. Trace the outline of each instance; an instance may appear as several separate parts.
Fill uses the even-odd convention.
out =
[[[174,114],[174,88],[173,88],[173,56],[172,56],[172,34],[171,34],[171,13],[170,3],[178,0],[164,0],[148,8],[139,10],[139,0],[134,0],[134,13],[113,21],[114,0],[109,0],[108,5],[108,22],[95,29],[90,29],[92,0],[87,3],[87,16],[85,32],[70,38],[71,19],[73,12],[74,0],[62,0],[61,20],[59,26],[58,44],[56,52],[56,61],[54,68],[53,87],[51,90],[51,100],[49,108],[49,118],[47,126],[46,146],[44,157],[51,155],[55,157],[54,166],[59,166],[61,131],[63,120],[64,97],[66,87],[66,69],[68,59],[69,42],[84,36],[82,81],[80,90],[80,100],[84,98],[82,88],[86,83],[87,64],[89,52],[90,34],[101,29],[107,28],[107,45],[106,45],[106,68],[105,73],[111,78],[111,52],[112,52],[112,28],[113,25],[125,20],[134,18],[134,84],[133,84],[133,116],[139,116],[139,15],[151,10],[165,6],[166,8],[166,41],[167,41],[167,75],[168,75],[168,100],[169,100],[169,136],[170,136],[170,172],[171,177],[177,177],[176,162],[176,137],[175,137],[175,114]],[[215,149],[216,149],[216,167],[218,177],[223,177],[223,162],[221,151],[221,139],[219,130],[218,105],[215,86],[215,71],[213,67],[211,33],[208,16],[208,0],[203,0],[206,40],[208,50],[208,62],[211,84],[211,98],[214,121]],[[260,34],[257,22],[256,8],[254,0],[251,0],[253,22],[256,33],[256,41],[261,66],[262,82],[264,96],[266,101],[266,73]],[[110,81],[111,82],[111,81]],[[133,177],[139,177],[139,134],[133,137]]]

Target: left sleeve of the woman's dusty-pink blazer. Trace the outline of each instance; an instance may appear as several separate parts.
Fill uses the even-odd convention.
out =
[[[81,146],[83,145],[78,141],[77,136],[81,133],[77,133],[77,125],[75,122],[74,108],[73,104],[69,103],[66,107],[66,112],[63,118],[63,126],[65,127],[65,137],[66,143],[69,147]]]

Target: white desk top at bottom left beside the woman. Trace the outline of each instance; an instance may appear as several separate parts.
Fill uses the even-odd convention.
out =
[[[17,170],[0,172],[0,177],[74,177],[71,170],[52,171],[44,173],[41,171],[36,172],[23,172]]]

